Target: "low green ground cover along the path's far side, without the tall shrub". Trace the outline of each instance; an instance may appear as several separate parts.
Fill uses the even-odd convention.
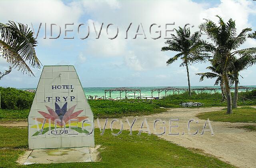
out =
[[[254,91],[239,93],[242,96],[250,98],[254,95]],[[247,95],[248,94],[248,95]],[[141,116],[150,115],[160,112],[165,112],[166,109],[160,108],[180,108],[180,104],[183,102],[200,102],[204,103],[201,107],[189,107],[189,108],[202,108],[202,107],[214,107],[214,106],[226,106],[226,102],[221,101],[222,96],[220,93],[209,94],[192,92],[192,96],[188,96],[188,92],[182,94],[174,94],[162,98],[160,100],[153,100],[152,102],[131,102],[133,99],[124,101],[112,101],[112,100],[88,100],[94,113],[95,118],[120,118],[124,116]],[[245,101],[244,103],[239,101],[238,106],[244,105],[256,105],[256,100]],[[188,107],[187,107],[188,108]],[[0,109],[0,121],[20,121],[27,120],[29,110],[7,110]]]

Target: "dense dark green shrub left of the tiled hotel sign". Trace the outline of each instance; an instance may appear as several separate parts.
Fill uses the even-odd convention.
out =
[[[2,109],[29,109],[35,94],[16,88],[0,87]]]

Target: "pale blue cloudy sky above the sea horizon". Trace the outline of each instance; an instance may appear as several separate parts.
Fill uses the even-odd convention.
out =
[[[225,22],[229,18],[236,20],[238,31],[246,27],[256,30],[255,8],[256,2],[252,0],[2,0],[0,22],[12,20],[31,28],[33,25],[38,32],[36,54],[42,65],[74,65],[83,87],[187,86],[186,68],[179,66],[180,60],[166,66],[168,58],[176,54],[161,51],[166,30],[189,23],[194,25],[190,27],[192,32],[198,31],[204,19],[217,22],[215,15]],[[166,24],[173,23],[166,28]],[[52,36],[51,24],[56,24],[52,26]],[[78,34],[79,24],[82,25]],[[151,24],[156,25],[150,34]],[[59,28],[59,38],[51,39],[58,36]],[[65,35],[65,30],[73,31]],[[160,31],[161,37],[154,40]],[[167,37],[170,33],[167,32]],[[74,39],[64,39],[72,37]],[[256,40],[249,39],[240,48],[248,47],[256,47]],[[6,60],[0,58],[0,71],[8,66]],[[214,84],[214,80],[199,82],[199,77],[194,75],[207,72],[207,66],[209,64],[192,64],[189,67],[192,86]],[[33,69],[33,72],[35,77],[13,70],[0,80],[0,86],[35,88],[42,69]],[[240,84],[256,85],[255,72],[256,66],[244,70]]]

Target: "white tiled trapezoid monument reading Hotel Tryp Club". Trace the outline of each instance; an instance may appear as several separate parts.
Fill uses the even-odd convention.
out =
[[[28,116],[28,144],[94,146],[93,114],[74,66],[44,66]]]

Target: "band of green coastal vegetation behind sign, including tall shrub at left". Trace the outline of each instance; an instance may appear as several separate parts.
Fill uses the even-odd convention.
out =
[[[34,93],[18,90],[15,88],[2,88],[0,121],[26,121],[34,98]],[[238,106],[256,105],[256,90],[240,92]],[[226,106],[222,101],[221,93],[199,93],[188,92],[166,96],[160,100],[148,102],[132,102],[134,99],[126,100],[88,100],[94,118],[120,118],[124,116],[150,115],[166,112],[166,108],[180,108],[184,102],[200,102],[204,106],[214,107]],[[189,107],[200,108],[200,107]]]

